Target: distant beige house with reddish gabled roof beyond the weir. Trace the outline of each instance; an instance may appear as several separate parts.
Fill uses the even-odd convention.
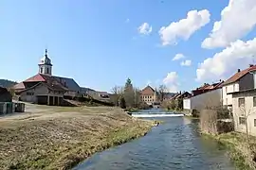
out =
[[[142,102],[147,103],[148,105],[153,105],[154,103],[159,102],[159,97],[156,92],[150,85],[146,86],[140,91],[140,99]]]

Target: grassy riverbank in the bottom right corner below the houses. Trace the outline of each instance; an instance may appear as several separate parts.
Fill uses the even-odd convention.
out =
[[[254,161],[256,153],[255,137],[250,138],[250,147],[247,146],[247,136],[243,133],[229,132],[212,136],[219,143],[224,144],[229,149],[229,158],[235,163],[236,167],[244,170],[255,170]]]

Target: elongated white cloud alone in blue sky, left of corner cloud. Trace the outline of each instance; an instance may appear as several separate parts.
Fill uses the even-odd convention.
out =
[[[209,22],[209,10],[191,10],[187,13],[187,18],[160,28],[159,35],[162,44],[175,44],[178,39],[187,41],[196,30],[200,29],[202,26],[206,26]]]

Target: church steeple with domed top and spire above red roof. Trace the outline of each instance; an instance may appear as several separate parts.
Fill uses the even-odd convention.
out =
[[[40,60],[39,66],[39,74],[51,76],[52,74],[52,64],[51,60],[48,58],[48,53],[46,49],[45,56]]]

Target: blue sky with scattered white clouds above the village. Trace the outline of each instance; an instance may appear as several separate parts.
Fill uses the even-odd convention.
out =
[[[255,63],[255,16],[255,0],[2,0],[0,78],[36,75],[47,48],[82,87],[191,91]]]

